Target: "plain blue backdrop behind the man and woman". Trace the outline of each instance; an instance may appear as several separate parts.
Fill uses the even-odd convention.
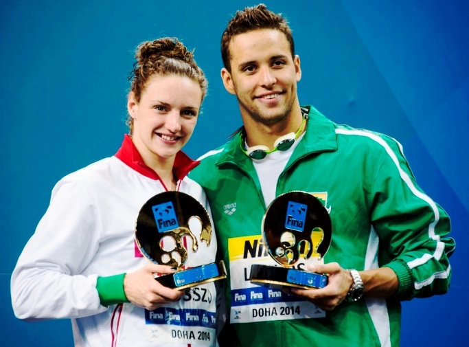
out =
[[[257,3],[1,1],[2,346],[73,346],[69,320],[16,320],[10,276],[54,183],[119,148],[137,44],[177,36],[196,49],[210,83],[185,147],[198,157],[241,124],[236,99],[220,80],[219,41],[230,16]],[[457,241],[450,291],[404,302],[402,346],[458,346],[469,309],[468,1],[264,3],[293,28],[303,70],[300,102],[335,122],[398,139],[417,182],[450,214]]]

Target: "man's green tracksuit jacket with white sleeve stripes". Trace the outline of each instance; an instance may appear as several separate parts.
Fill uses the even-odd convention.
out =
[[[455,248],[447,237],[450,220],[417,186],[395,139],[334,124],[308,109],[306,133],[279,176],[276,196],[301,190],[318,197],[332,220],[323,261],[358,271],[390,267],[399,279],[398,293],[390,300],[343,302],[324,313],[251,284],[250,266],[271,259],[262,249],[266,205],[238,134],[201,157],[190,174],[207,192],[218,252],[229,269],[229,324],[220,346],[398,346],[400,300],[448,291],[448,257]]]

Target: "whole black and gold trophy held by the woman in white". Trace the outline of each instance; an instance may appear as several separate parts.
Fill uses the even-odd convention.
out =
[[[182,192],[163,192],[152,197],[141,208],[135,225],[135,240],[141,254],[156,264],[177,268],[176,273],[155,278],[172,289],[227,277],[222,260],[183,269],[190,256],[197,256],[201,244],[210,245],[211,234],[210,218],[203,205]],[[192,240],[190,250],[183,236]]]

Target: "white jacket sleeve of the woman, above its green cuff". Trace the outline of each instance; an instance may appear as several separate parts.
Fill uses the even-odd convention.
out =
[[[93,201],[78,183],[62,179],[47,212],[19,257],[11,278],[12,306],[22,320],[84,317],[106,311],[98,276],[82,276],[100,242]]]

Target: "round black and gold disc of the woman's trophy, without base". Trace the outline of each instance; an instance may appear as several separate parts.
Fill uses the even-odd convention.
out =
[[[198,241],[189,221],[197,218],[201,223],[201,241],[209,245],[211,224],[203,205],[183,192],[162,192],[150,198],[141,208],[135,225],[135,239],[141,254],[159,265],[181,268],[187,260],[183,236],[192,238],[192,251]],[[174,239],[173,249],[163,249],[163,238]]]

